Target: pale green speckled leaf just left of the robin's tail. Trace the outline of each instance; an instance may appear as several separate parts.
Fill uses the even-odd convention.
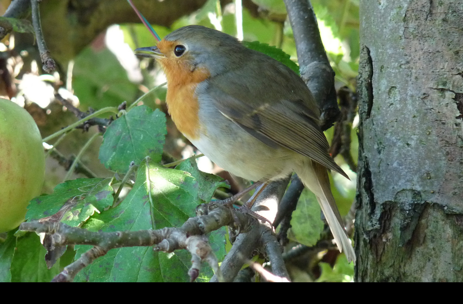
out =
[[[321,209],[315,195],[304,189],[291,218],[291,230],[288,233],[288,238],[307,246],[315,245],[325,226],[320,218],[320,212]]]

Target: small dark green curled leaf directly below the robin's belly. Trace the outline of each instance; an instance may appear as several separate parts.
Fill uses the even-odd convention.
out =
[[[196,179],[199,183],[198,196],[206,203],[210,202],[217,188],[230,188],[230,185],[222,177],[200,171],[194,158],[185,159],[175,169],[187,171]]]

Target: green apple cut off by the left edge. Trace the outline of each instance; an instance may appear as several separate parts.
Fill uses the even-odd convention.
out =
[[[0,98],[0,232],[24,221],[27,203],[44,183],[42,137],[32,116]]]

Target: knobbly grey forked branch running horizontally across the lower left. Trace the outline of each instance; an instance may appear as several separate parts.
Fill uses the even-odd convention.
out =
[[[63,213],[63,211],[61,211]],[[93,245],[87,253],[78,260],[66,266],[54,280],[70,282],[84,267],[96,258],[105,255],[110,249],[133,246],[153,246],[154,250],[173,252],[177,249],[188,249],[192,254],[192,266],[188,271],[190,279],[199,274],[200,262],[209,263],[216,274],[220,273],[218,261],[211,247],[203,239],[203,235],[223,226],[231,226],[238,221],[239,225],[249,229],[250,223],[256,220],[250,215],[237,210],[216,205],[207,215],[189,218],[180,228],[162,228],[157,230],[92,232],[82,228],[71,227],[56,222],[52,215],[39,221],[25,222],[20,230],[35,231],[49,235],[50,247],[60,248],[65,245]],[[221,277],[219,278],[220,280]]]

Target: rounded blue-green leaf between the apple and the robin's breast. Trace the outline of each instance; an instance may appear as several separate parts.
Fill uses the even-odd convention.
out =
[[[159,162],[166,133],[163,112],[144,105],[135,107],[107,128],[100,147],[100,161],[119,173],[126,173],[132,161],[140,165],[146,156]]]

